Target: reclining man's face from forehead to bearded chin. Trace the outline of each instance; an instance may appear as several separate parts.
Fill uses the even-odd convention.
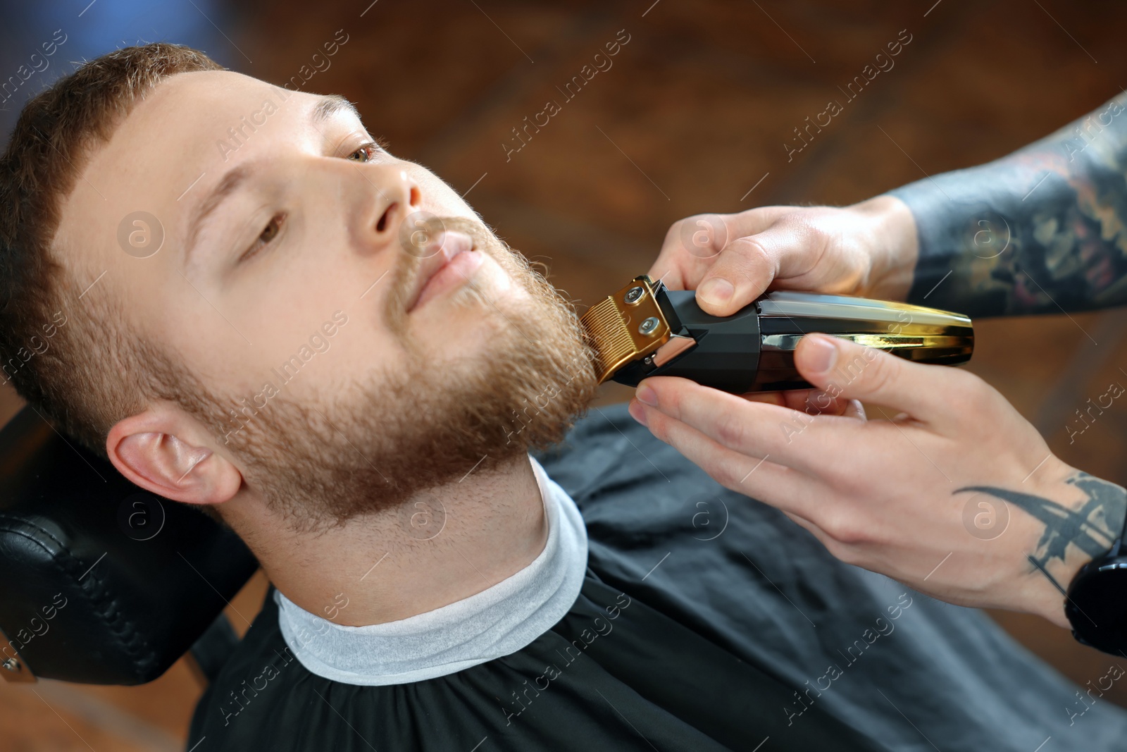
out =
[[[596,386],[554,290],[371,142],[339,100],[174,76],[94,152],[55,239],[183,368],[210,449],[304,527],[556,441]]]

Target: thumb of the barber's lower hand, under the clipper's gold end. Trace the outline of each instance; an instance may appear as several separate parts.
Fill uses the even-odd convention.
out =
[[[920,421],[941,415],[951,390],[946,368],[912,363],[849,339],[811,333],[795,350],[804,379],[832,398],[860,399],[907,413]]]

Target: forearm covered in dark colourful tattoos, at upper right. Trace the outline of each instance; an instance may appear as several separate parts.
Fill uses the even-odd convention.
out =
[[[919,228],[908,301],[973,317],[1127,304],[1127,95],[1009,157],[890,192]]]

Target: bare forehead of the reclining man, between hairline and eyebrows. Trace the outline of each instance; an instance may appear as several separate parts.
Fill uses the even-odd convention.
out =
[[[56,254],[96,275],[145,257],[134,239],[179,235],[201,198],[195,194],[211,191],[256,152],[319,140],[323,126],[314,121],[340,109],[355,112],[341,97],[292,91],[231,71],[165,79],[116,124],[108,143],[91,150],[64,200]],[[139,216],[142,225],[134,221]],[[91,237],[103,241],[90,244]]]

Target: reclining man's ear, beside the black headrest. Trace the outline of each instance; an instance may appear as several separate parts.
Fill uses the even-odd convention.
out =
[[[242,474],[208,443],[206,431],[186,413],[158,405],[114,424],[106,453],[145,490],[187,504],[222,504],[239,490]]]

